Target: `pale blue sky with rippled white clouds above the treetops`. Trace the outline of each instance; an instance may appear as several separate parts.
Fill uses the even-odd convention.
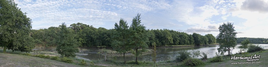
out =
[[[32,19],[32,29],[58,27],[65,22],[113,29],[120,18],[132,23],[141,14],[146,29],[188,34],[219,34],[232,22],[237,37],[268,38],[268,0],[15,0]]]

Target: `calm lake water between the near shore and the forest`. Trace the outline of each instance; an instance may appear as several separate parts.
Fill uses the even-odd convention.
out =
[[[259,44],[262,48],[264,49],[268,49],[268,44]],[[235,49],[232,50],[232,53],[238,53],[238,51],[240,50],[238,47],[241,45],[237,45]],[[208,46],[195,46],[192,48],[156,48],[156,57],[157,57],[157,62],[159,61],[169,61],[169,60],[174,60],[176,58],[179,51],[181,50],[187,50],[187,51],[191,51],[191,50],[200,50],[200,52],[205,52],[208,55],[208,58],[212,58],[215,56],[215,52],[218,52],[217,48],[219,48],[219,45],[208,45]],[[82,58],[87,58],[90,60],[98,60],[99,54],[96,54],[96,48],[86,48],[88,49],[88,51],[81,51],[80,53],[78,53],[77,56],[82,57]],[[46,51],[54,51],[54,49],[43,49]],[[111,49],[110,49],[111,50]],[[34,51],[40,51],[40,50],[34,50]],[[227,55],[228,53],[225,53],[225,55]],[[102,59],[104,58],[104,56],[102,56]],[[134,61],[135,60],[135,56],[134,55],[126,55],[125,56],[127,61]],[[201,58],[201,57],[200,57]],[[117,61],[124,61],[123,56],[111,56],[111,55],[107,55],[107,59],[113,59],[113,60],[117,60]],[[141,56],[138,57],[138,60],[142,60],[142,61],[152,61],[152,54],[148,53],[148,54],[143,54]]]

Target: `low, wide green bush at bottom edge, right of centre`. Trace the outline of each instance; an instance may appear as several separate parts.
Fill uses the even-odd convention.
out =
[[[183,61],[183,65],[185,66],[199,66],[204,64],[201,60],[197,58],[187,58],[186,60]]]

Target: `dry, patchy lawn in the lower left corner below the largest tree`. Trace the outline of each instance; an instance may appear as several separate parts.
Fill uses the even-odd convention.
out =
[[[32,57],[27,55],[0,53],[0,67],[82,67],[74,63],[65,63],[62,61]]]

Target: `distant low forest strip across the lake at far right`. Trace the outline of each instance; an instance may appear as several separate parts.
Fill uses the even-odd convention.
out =
[[[248,38],[248,37],[239,37],[237,38],[237,43],[241,43],[242,41],[248,39],[250,43],[253,44],[268,44],[268,39],[267,38]]]

